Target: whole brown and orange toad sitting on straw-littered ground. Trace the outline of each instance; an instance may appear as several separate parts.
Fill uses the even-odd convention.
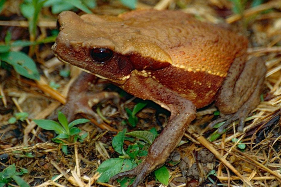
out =
[[[162,166],[195,118],[196,108],[215,101],[227,114],[218,121],[227,120],[228,125],[239,119],[238,130],[243,131],[244,119],[260,101],[266,67],[260,58],[247,60],[247,38],[192,15],[136,10],[119,17],[78,16],[65,11],[58,21],[60,33],[53,52],[89,73],[82,73],[73,84],[66,112],[96,116],[92,105],[118,97],[105,92],[84,94],[93,75],[171,112],[144,161],[111,181],[136,177],[133,186],[137,186]]]

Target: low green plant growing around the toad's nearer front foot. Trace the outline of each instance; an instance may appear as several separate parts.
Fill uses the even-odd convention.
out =
[[[133,131],[126,133],[127,129],[119,132],[112,140],[112,147],[120,154],[119,158],[111,158],[105,160],[98,168],[97,172],[101,174],[98,181],[108,182],[108,180],[121,172],[131,170],[141,163],[140,157],[147,156],[147,150],[157,137],[157,131],[152,128],[150,131]],[[130,136],[130,137],[128,137]],[[124,150],[124,140],[131,141]],[[159,171],[158,171],[159,170]],[[157,180],[167,185],[169,180],[169,172],[165,166],[155,171]],[[126,178],[118,180],[121,186],[128,186],[134,180]]]

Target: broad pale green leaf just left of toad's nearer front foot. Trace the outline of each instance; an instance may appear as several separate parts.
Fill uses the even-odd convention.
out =
[[[97,172],[99,172],[101,176],[98,182],[108,182],[111,177],[118,174],[121,171],[123,161],[123,158],[111,158],[99,165]]]

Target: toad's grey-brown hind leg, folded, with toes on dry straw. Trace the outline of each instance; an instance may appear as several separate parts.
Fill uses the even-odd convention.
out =
[[[246,117],[260,102],[266,66],[258,57],[253,57],[246,63],[242,59],[243,57],[234,60],[218,93],[215,105],[226,115],[210,123],[209,127],[213,128],[218,122],[225,121],[218,129],[219,133],[237,119],[240,120],[238,131],[243,132]]]

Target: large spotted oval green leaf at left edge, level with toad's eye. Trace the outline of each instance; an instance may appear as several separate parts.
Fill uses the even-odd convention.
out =
[[[39,80],[40,76],[34,61],[23,52],[6,52],[0,54],[2,61],[12,65],[24,77]]]

